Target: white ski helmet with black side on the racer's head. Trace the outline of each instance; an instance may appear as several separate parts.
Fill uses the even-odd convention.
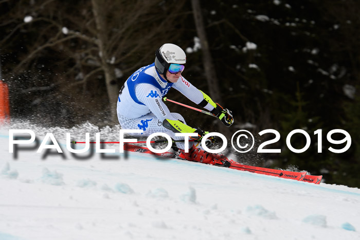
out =
[[[172,63],[185,64],[186,54],[181,47],[166,43],[155,52],[155,68],[160,74],[165,75]]]

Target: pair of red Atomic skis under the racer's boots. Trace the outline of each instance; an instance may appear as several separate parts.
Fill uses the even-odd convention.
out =
[[[154,153],[154,152],[151,152],[145,146],[136,146],[136,145],[129,144],[129,143],[124,144],[124,150],[130,151],[130,152],[137,152],[137,153],[147,153],[147,154],[168,157],[168,158],[174,158],[174,156],[175,156],[175,154],[171,153],[171,152]],[[232,163],[230,164],[229,168],[240,170],[240,171],[248,171],[251,173],[258,173],[258,174],[265,174],[265,175],[269,175],[269,176],[294,179],[294,180],[298,180],[298,181],[306,181],[306,182],[311,182],[311,183],[315,183],[315,184],[320,184],[321,179],[322,179],[322,176],[307,175],[307,172],[293,172],[293,171],[254,167],[254,166],[250,166],[250,165],[240,164],[233,160],[232,160]]]

